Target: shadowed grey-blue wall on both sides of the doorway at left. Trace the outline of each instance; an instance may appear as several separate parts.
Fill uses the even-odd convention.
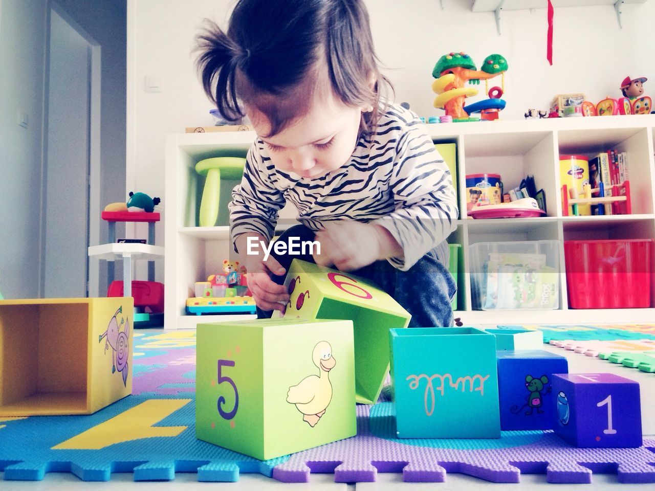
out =
[[[102,45],[101,198],[125,199],[125,0],[58,0]],[[0,4],[0,292],[37,298],[41,283],[41,185],[47,12],[50,0]],[[29,115],[17,124],[18,110]],[[58,210],[54,220],[71,210]],[[103,227],[101,241],[106,240]],[[101,268],[101,272],[104,268]]]

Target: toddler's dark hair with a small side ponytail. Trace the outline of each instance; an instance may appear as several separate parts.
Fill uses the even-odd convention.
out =
[[[313,94],[331,90],[346,105],[373,107],[360,131],[375,129],[381,90],[391,85],[379,71],[363,0],[239,0],[227,32],[208,24],[197,64],[227,120],[248,105],[268,118],[273,136],[309,111]]]

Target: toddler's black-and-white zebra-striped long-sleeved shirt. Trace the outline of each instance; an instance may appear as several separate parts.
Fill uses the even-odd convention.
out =
[[[448,167],[417,115],[396,104],[381,115],[375,135],[358,139],[346,164],[316,179],[277,170],[257,139],[232,198],[233,242],[246,232],[271,240],[278,211],[290,201],[298,221],[311,230],[343,219],[388,229],[403,249],[403,257],[389,259],[400,270],[411,268],[457,227]]]

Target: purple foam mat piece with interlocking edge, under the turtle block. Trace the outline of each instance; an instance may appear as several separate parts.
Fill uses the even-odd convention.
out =
[[[655,439],[644,439],[640,448],[575,448],[546,431],[533,443],[505,448],[498,441],[490,442],[489,448],[477,448],[476,441],[469,441],[470,448],[466,441],[436,448],[438,440],[425,440],[426,446],[420,446],[421,441],[408,444],[388,438],[395,434],[395,418],[392,405],[381,404],[386,406],[376,408],[373,420],[371,407],[358,406],[356,437],[291,455],[273,469],[274,479],[309,482],[312,472],[333,472],[336,482],[372,482],[378,472],[402,472],[405,482],[443,482],[446,473],[519,482],[521,473],[545,473],[548,482],[589,483],[595,472],[616,473],[619,482],[655,482]],[[371,422],[375,433],[385,438],[371,432]],[[515,432],[503,435],[511,433]]]

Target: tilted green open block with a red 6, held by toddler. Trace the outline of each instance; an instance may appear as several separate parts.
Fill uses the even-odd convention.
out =
[[[355,338],[355,393],[373,404],[389,370],[389,329],[407,327],[409,313],[367,280],[294,259],[284,285],[285,318],[350,319]]]

